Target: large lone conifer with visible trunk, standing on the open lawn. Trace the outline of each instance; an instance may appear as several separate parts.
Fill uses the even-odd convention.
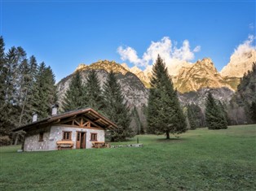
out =
[[[170,139],[170,133],[179,134],[186,131],[186,122],[183,111],[179,105],[177,92],[166,64],[157,57],[152,68],[148,98],[148,131],[152,133],[166,133],[166,139]]]

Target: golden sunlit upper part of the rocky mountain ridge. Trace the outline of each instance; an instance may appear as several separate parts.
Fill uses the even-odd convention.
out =
[[[196,63],[176,62],[168,65],[167,68],[172,77],[174,88],[180,93],[197,91],[203,88],[223,88],[226,87],[236,91],[241,77],[245,72],[251,70],[252,63],[256,61],[256,50],[241,54],[241,57],[232,55],[227,66],[218,72],[210,58],[197,60]],[[241,63],[241,64],[240,64]],[[234,69],[233,69],[234,68]],[[89,69],[103,69],[106,72],[113,71],[126,75],[127,72],[135,74],[142,81],[143,85],[150,88],[150,78],[152,76],[152,66],[148,66],[144,71],[139,67],[128,67],[126,63],[116,63],[115,61],[99,60],[90,65],[80,64],[75,71]]]

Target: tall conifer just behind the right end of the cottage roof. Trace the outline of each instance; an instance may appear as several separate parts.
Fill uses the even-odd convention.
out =
[[[104,113],[118,128],[111,134],[111,141],[123,141],[132,137],[130,129],[130,110],[121,93],[121,85],[113,72],[108,73],[104,83]]]

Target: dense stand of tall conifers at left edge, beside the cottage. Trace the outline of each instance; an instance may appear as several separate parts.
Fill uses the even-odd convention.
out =
[[[0,134],[4,141],[20,135],[11,130],[31,122],[33,112],[45,118],[56,101],[55,75],[51,67],[38,63],[25,50],[12,46],[5,52],[0,37]],[[17,138],[15,138],[17,137]]]

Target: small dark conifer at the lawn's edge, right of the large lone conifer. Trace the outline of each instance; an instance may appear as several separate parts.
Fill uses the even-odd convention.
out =
[[[224,111],[216,103],[211,93],[208,93],[205,106],[205,120],[209,129],[227,128]]]

